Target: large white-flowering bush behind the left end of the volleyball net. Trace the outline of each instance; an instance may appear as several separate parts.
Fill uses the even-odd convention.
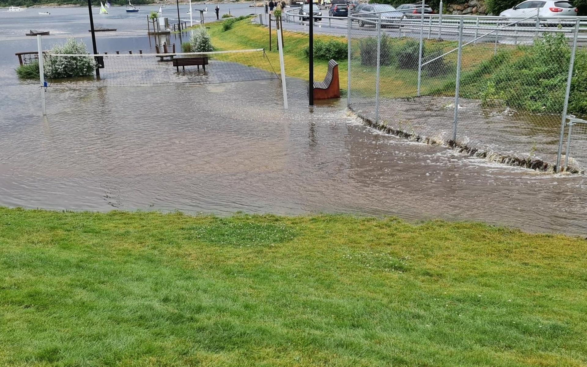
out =
[[[63,45],[55,45],[50,53],[85,55],[87,46],[83,41],[68,38]],[[45,75],[49,79],[74,78],[76,76],[90,76],[96,70],[96,61],[93,56],[45,56]]]

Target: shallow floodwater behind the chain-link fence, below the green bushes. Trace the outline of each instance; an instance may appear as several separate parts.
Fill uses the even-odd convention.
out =
[[[380,119],[393,129],[430,137],[437,142],[453,139],[454,97],[423,96],[381,102]],[[495,157],[556,163],[561,116],[532,115],[507,107],[482,107],[479,100],[459,100],[457,143],[494,153]],[[352,104],[360,116],[375,120],[375,98]],[[565,137],[566,139],[566,137]],[[565,145],[566,146],[566,145]],[[574,171],[587,169],[587,129],[572,134],[571,162]],[[490,154],[491,154],[490,153]],[[564,151],[562,161],[564,164]]]

